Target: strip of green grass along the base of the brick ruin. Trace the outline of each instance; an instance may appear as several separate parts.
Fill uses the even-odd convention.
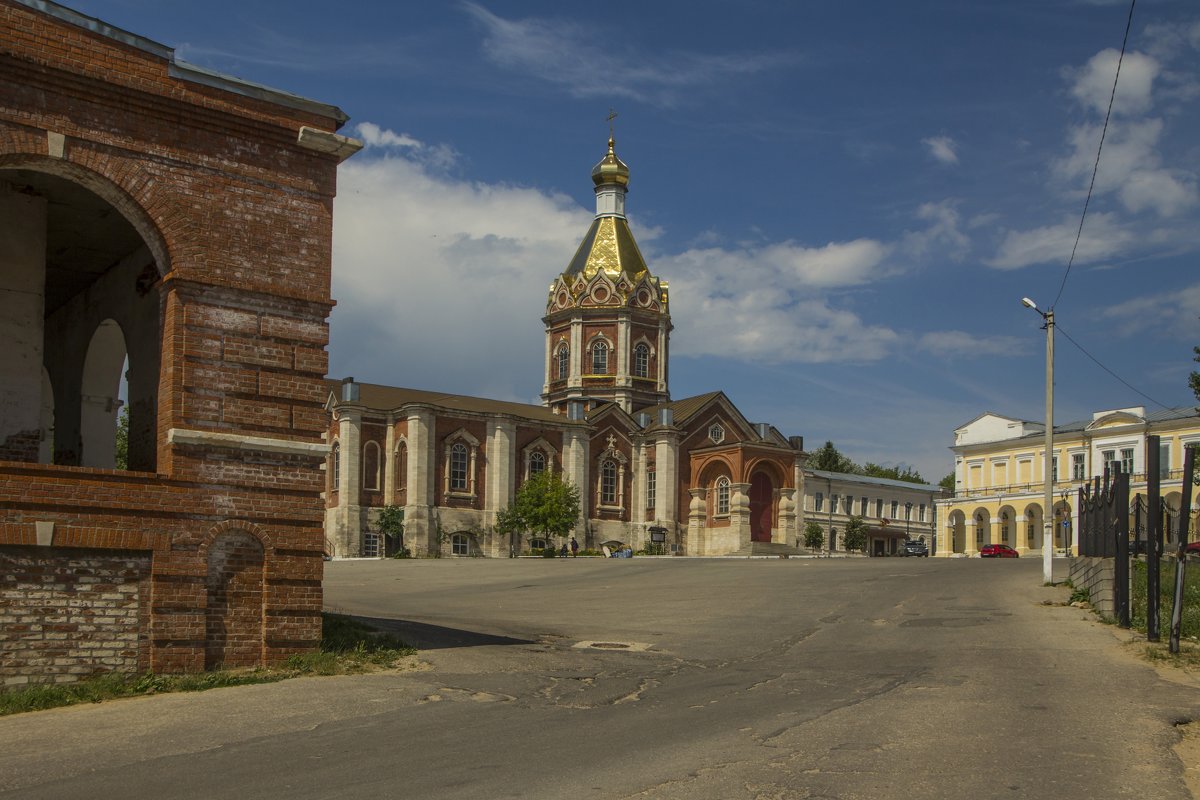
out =
[[[295,655],[281,667],[216,669],[190,675],[130,675],[108,673],[74,684],[38,684],[0,691],[0,716],[41,711],[78,703],[163,692],[203,692],[206,688],[272,684],[301,675],[350,675],[386,669],[416,652],[400,639],[380,633],[344,614],[322,614],[320,648]]]

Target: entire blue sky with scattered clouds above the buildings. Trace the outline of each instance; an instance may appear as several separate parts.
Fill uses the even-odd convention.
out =
[[[1128,2],[163,2],[78,11],[344,109],[331,374],[536,402],[614,108],[671,390],[936,481],[1043,417]],[[1165,405],[1200,344],[1200,7],[1138,4],[1061,330]],[[1158,405],[1057,339],[1056,420]]]

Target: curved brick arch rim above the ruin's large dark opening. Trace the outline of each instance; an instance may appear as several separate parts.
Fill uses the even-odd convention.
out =
[[[179,229],[182,221],[173,203],[160,199],[161,186],[134,162],[92,154],[86,166],[40,154],[11,152],[13,137],[0,142],[0,170],[30,169],[70,180],[97,194],[133,227],[154,255],[160,276],[170,272],[170,248],[163,230]],[[17,143],[25,144],[25,143]],[[156,194],[157,192],[157,194]],[[161,224],[166,223],[166,224]]]

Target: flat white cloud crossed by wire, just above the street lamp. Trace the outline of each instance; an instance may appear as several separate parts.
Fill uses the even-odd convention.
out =
[[[1031,230],[1009,230],[996,252],[986,260],[998,270],[1016,270],[1032,264],[1066,266],[1075,242],[1079,221],[1067,218],[1056,225]],[[1111,213],[1088,215],[1079,241],[1075,263],[1088,264],[1115,258],[1135,243],[1135,236]]]

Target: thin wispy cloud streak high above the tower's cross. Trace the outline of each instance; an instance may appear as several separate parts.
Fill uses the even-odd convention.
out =
[[[731,77],[754,74],[794,60],[785,53],[632,52],[619,28],[505,19],[475,2],[467,12],[486,31],[484,54],[493,62],[558,84],[576,97],[624,96],[673,106],[689,94]]]

